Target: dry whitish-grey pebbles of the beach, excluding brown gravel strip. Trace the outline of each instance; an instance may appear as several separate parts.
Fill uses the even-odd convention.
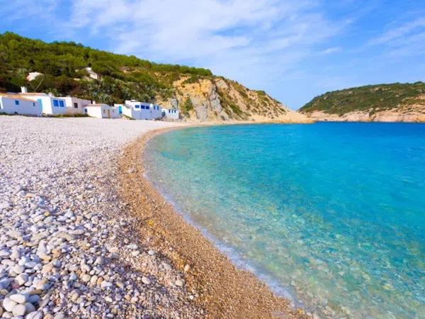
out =
[[[126,142],[175,125],[0,116],[0,318],[200,317],[115,183]]]

